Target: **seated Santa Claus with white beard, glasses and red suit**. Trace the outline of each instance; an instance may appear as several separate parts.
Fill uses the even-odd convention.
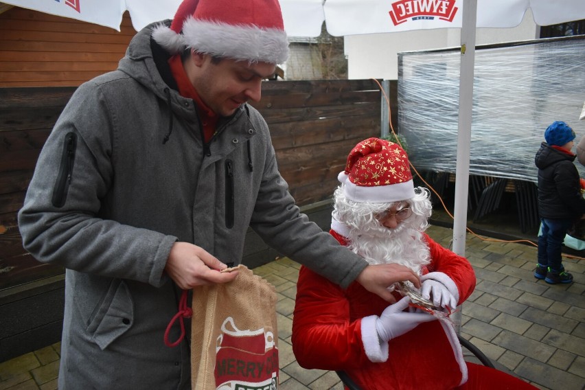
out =
[[[463,360],[448,315],[472,293],[474,271],[424,233],[430,194],[414,187],[406,152],[365,139],[349,153],[339,181],[330,233],[370,264],[412,268],[435,309],[417,309],[398,290],[389,305],[360,284],[344,290],[301,267],[292,322],[299,365],[343,370],[361,389],[534,389]]]

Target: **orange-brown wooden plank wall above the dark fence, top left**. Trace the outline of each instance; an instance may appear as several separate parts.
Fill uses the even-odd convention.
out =
[[[116,69],[136,34],[14,7],[0,14],[0,87],[78,87]]]

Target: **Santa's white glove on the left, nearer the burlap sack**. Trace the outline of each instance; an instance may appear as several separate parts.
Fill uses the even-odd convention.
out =
[[[428,313],[411,313],[403,310],[409,307],[411,299],[404,297],[400,301],[384,309],[380,318],[376,319],[376,331],[380,340],[386,343],[395,337],[409,332],[418,324],[437,319]]]

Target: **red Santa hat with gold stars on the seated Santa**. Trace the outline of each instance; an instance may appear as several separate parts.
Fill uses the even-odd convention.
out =
[[[368,138],[349,152],[337,179],[345,196],[358,203],[392,203],[415,196],[409,157],[391,141]]]

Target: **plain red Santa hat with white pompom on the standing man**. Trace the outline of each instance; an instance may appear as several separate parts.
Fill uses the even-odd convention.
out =
[[[191,48],[211,56],[275,65],[288,58],[278,0],[184,0],[170,27],[157,25],[152,38],[171,54]]]

